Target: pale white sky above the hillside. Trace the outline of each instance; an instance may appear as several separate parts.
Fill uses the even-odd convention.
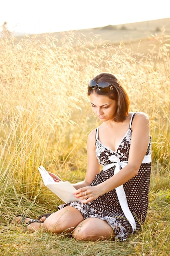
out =
[[[170,0],[2,0],[0,26],[39,34],[170,18]],[[2,27],[0,28],[2,30]]]

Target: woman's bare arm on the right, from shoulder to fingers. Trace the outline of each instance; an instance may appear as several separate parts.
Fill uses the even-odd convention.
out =
[[[142,160],[146,155],[149,141],[149,119],[144,113],[137,113],[132,122],[132,139],[129,150],[128,164],[110,179],[93,187],[84,187],[75,194],[84,203],[95,200],[100,195],[115,189],[137,175]],[[88,195],[88,199],[84,196]]]

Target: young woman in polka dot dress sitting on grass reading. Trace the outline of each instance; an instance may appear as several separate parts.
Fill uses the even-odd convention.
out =
[[[101,73],[90,80],[88,95],[103,123],[88,135],[86,177],[74,184],[80,201],[58,206],[48,218],[26,218],[24,223],[28,229],[65,232],[77,240],[116,236],[124,241],[141,228],[148,209],[149,119],[143,112],[129,112],[128,95],[113,74]]]

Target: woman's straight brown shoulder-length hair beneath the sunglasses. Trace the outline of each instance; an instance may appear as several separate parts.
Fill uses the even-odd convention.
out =
[[[105,96],[109,97],[110,99],[116,99],[118,106],[117,106],[117,110],[115,113],[114,121],[116,121],[116,122],[124,121],[128,115],[130,101],[129,101],[127,92],[121,86],[121,84],[117,80],[117,78],[113,74],[100,73],[100,74],[97,74],[97,76],[95,76],[93,78],[93,80],[96,83],[108,82],[111,85],[113,85],[114,90],[112,90],[108,93],[101,92],[100,90],[98,90],[98,87],[96,85],[94,90],[88,90],[88,95],[95,92],[96,94],[99,94],[99,95],[105,95]]]

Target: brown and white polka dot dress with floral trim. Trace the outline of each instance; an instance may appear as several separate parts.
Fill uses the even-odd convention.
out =
[[[112,162],[109,160],[109,157],[113,155],[118,157],[120,162],[125,161],[125,159],[127,161],[132,135],[131,122],[126,135],[122,139],[116,151],[107,148],[99,141],[98,129],[99,127],[97,128],[96,136],[96,156],[99,163],[102,166],[111,164]],[[150,154],[151,137],[146,155]],[[96,186],[97,184],[108,180],[114,175],[114,171],[115,166],[108,168],[106,171],[101,171],[95,176],[95,180],[93,180],[90,186]],[[123,185],[129,210],[136,222],[136,230],[141,228],[148,210],[150,171],[151,163],[141,164],[138,174]],[[58,206],[58,209],[62,209],[67,205],[77,208],[85,219],[91,217],[106,220],[113,228],[114,233],[120,241],[126,240],[128,234],[132,233],[132,227],[121,209],[115,189],[99,196],[99,198],[88,204],[83,204],[77,201],[68,202]]]

